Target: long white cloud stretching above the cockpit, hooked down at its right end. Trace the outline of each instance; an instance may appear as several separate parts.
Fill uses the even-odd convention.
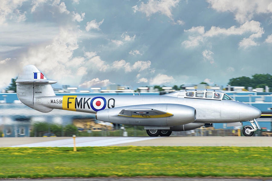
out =
[[[255,38],[262,37],[264,34],[264,28],[261,27],[261,23],[258,21],[247,21],[240,27],[232,26],[228,29],[212,26],[210,30],[204,32],[204,27],[192,27],[188,32],[198,32],[201,35],[189,36],[189,40],[183,41],[182,44],[186,47],[196,47],[200,42],[203,42],[204,38],[215,36],[230,36],[230,35],[243,35],[245,33],[251,33],[248,38],[244,38],[239,43],[239,47],[248,48],[250,46],[257,46],[258,43],[254,41]]]

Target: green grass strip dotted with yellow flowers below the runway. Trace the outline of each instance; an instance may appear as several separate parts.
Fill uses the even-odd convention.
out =
[[[272,177],[271,147],[0,148],[0,176]]]

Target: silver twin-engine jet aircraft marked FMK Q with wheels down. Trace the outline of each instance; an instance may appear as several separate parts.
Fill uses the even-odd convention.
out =
[[[170,136],[172,131],[187,131],[205,123],[249,121],[243,134],[252,136],[260,129],[261,111],[233,100],[218,90],[182,90],[161,96],[56,96],[51,84],[34,66],[27,65],[16,80],[17,96],[34,110],[53,109],[96,114],[96,119],[125,125],[144,126],[149,136]]]

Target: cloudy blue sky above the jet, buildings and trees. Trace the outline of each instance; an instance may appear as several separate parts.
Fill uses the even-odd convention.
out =
[[[28,64],[62,84],[226,85],[271,74],[271,1],[0,2],[0,88]]]

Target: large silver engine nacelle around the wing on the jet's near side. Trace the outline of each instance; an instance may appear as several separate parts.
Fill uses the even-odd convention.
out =
[[[152,108],[173,114],[173,116],[163,118],[134,118],[118,116],[121,110],[135,108]],[[96,113],[96,119],[105,122],[126,125],[142,126],[177,126],[187,124],[196,120],[196,109],[180,104],[144,104],[134,106],[122,106],[105,109]]]

